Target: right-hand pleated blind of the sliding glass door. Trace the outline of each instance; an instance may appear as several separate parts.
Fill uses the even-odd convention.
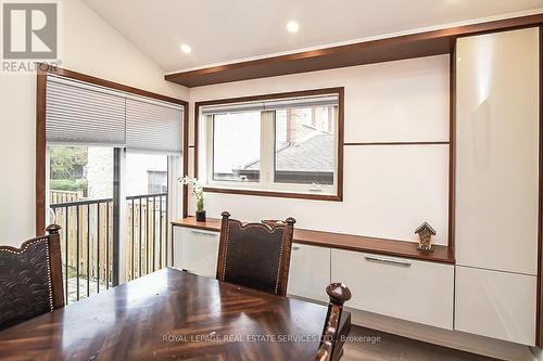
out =
[[[182,107],[141,100],[126,100],[126,147],[180,154],[182,151]]]

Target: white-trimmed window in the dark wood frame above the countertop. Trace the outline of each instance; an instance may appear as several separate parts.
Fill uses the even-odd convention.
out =
[[[307,93],[200,105],[206,190],[338,195],[340,94]]]

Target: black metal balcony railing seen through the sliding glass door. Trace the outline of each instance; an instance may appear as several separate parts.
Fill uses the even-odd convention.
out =
[[[116,285],[168,265],[167,193],[128,196],[125,202],[124,242],[115,236],[113,198],[50,205],[61,229],[66,302]],[[114,249],[124,248],[125,267]]]

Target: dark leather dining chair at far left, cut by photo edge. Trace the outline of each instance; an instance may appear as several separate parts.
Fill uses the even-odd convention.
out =
[[[64,306],[60,225],[20,248],[0,246],[0,330]]]

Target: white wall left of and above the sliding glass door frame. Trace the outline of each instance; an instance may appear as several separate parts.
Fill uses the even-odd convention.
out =
[[[62,67],[144,90],[188,99],[164,72],[80,0],[61,7]],[[0,75],[0,244],[35,235],[36,76]]]

